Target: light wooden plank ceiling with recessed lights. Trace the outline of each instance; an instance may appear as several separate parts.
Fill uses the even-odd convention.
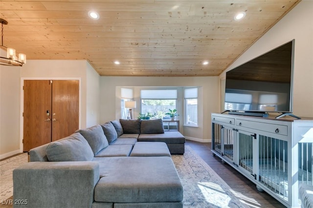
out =
[[[298,2],[0,0],[0,18],[4,45],[28,60],[88,60],[101,76],[217,76]]]

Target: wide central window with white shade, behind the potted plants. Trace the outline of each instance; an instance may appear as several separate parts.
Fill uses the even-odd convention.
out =
[[[154,118],[170,119],[165,116],[168,109],[177,108],[177,90],[141,90],[141,113],[151,113]],[[150,115],[151,116],[151,115]]]

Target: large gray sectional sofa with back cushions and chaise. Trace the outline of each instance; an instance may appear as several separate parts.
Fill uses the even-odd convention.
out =
[[[183,187],[167,146],[183,153],[176,144],[184,139],[165,132],[163,142],[159,124],[111,121],[31,149],[30,162],[13,171],[14,201],[27,203],[14,207],[182,208]],[[141,135],[155,142],[139,142]]]

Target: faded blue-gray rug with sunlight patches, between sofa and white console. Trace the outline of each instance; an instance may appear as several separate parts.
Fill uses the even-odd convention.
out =
[[[184,189],[184,208],[249,208],[190,146],[172,159]]]

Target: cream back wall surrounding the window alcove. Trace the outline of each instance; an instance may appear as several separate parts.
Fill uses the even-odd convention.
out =
[[[115,92],[120,86],[200,86],[199,127],[183,126],[182,131],[187,139],[210,141],[211,113],[219,112],[220,108],[218,77],[101,77],[100,80],[100,123],[120,118],[120,98]],[[134,117],[138,112],[135,109]]]

